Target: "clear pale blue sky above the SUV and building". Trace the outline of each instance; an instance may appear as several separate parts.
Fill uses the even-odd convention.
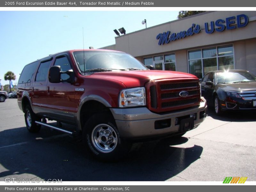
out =
[[[176,20],[178,11],[0,11],[0,79],[56,52],[115,44],[114,29],[126,33]]]

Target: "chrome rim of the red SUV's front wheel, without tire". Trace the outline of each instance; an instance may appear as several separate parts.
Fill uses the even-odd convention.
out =
[[[92,143],[102,153],[109,153],[116,148],[116,131],[108,124],[99,124],[92,130]]]

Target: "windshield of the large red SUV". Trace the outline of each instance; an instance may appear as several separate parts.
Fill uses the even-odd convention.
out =
[[[82,73],[91,71],[111,70],[148,70],[131,55],[123,52],[108,51],[78,51],[74,52],[76,63]],[[84,70],[85,66],[85,70]],[[111,71],[105,70],[105,71]]]

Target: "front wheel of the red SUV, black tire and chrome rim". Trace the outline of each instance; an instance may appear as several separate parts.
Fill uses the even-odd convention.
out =
[[[106,113],[94,114],[85,123],[83,142],[101,161],[115,162],[131,149],[131,143],[120,137],[113,117]]]

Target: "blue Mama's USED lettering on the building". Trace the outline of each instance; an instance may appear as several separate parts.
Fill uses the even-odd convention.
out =
[[[244,19],[243,23],[242,23],[242,19]],[[248,24],[247,15],[241,14],[241,15],[237,15],[236,17],[235,16],[228,17],[225,20],[218,19],[215,22],[211,21],[210,28],[208,26],[208,23],[206,22],[204,23],[204,30],[205,30],[205,33],[211,34],[214,31],[222,32],[225,29],[230,30],[230,29],[245,27],[247,24]],[[201,31],[200,25],[196,25],[193,23],[192,26],[187,29],[187,31],[180,31],[179,33],[171,33],[171,31],[159,33],[156,36],[156,39],[159,40],[158,41],[159,45],[163,45],[163,44],[168,44],[171,41],[183,39],[187,36],[198,34],[200,31]]]

